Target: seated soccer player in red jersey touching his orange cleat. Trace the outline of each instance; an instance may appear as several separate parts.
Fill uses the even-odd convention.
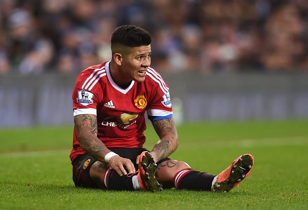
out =
[[[168,157],[178,146],[178,135],[169,88],[150,67],[147,31],[132,25],[116,28],[111,55],[111,61],[83,70],[74,87],[70,158],[76,186],[229,192],[250,173],[250,154],[241,155],[218,176]],[[151,151],[143,147],[145,111],[160,139]]]

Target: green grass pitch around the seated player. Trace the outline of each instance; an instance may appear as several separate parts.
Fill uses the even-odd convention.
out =
[[[308,120],[206,122],[177,126],[171,158],[218,174],[251,153],[250,175],[229,193],[76,188],[72,126],[0,129],[0,209],[308,209]],[[146,147],[158,140],[152,125]]]

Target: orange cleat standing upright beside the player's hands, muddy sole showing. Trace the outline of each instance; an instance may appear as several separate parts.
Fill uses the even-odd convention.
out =
[[[143,191],[158,192],[162,190],[162,185],[155,178],[157,164],[153,156],[144,151],[139,157],[139,173],[137,178]]]

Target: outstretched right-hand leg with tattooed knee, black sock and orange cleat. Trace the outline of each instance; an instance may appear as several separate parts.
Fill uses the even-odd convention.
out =
[[[165,160],[158,164],[156,176],[164,188],[229,192],[246,178],[253,167],[253,156],[244,154],[218,176],[199,172],[177,160]]]

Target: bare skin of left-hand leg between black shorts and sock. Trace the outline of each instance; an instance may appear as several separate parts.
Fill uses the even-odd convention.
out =
[[[100,161],[96,161],[92,164],[90,168],[90,177],[91,179],[102,189],[106,189],[106,186],[104,184],[104,175],[105,170],[107,168],[108,164],[102,163]]]

